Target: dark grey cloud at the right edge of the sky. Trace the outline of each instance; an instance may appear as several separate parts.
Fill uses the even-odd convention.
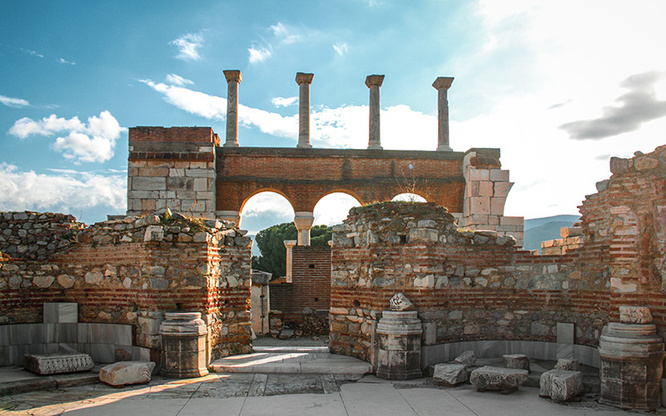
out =
[[[629,91],[615,100],[618,105],[604,107],[599,118],[562,124],[560,128],[572,139],[604,139],[666,116],[666,101],[657,98],[654,88],[664,74],[651,71],[630,76],[620,84]]]

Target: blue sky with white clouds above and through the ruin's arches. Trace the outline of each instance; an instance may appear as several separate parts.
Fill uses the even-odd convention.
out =
[[[385,149],[434,150],[437,94],[453,76],[451,146],[498,147],[506,214],[576,214],[611,156],[666,139],[666,3],[604,1],[14,1],[0,13],[0,211],[126,207],[127,129],[225,131],[224,69],[240,69],[241,146],[297,143],[296,72],[311,86],[312,143],[367,146],[370,74]],[[339,221],[332,196],[318,223]],[[293,216],[262,194],[251,232]]]

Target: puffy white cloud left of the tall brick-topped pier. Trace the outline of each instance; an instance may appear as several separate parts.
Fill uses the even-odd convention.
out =
[[[82,123],[78,117],[65,119],[51,114],[34,121],[28,117],[17,120],[9,129],[20,139],[28,136],[58,135],[53,148],[67,159],[75,162],[104,162],[113,157],[113,149],[120,133],[127,129],[120,127],[118,121],[108,111],[88,117],[88,123]]]

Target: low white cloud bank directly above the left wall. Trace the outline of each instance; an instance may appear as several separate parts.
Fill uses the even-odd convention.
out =
[[[93,207],[125,210],[125,175],[67,171],[37,174],[0,163],[0,211],[67,212]]]

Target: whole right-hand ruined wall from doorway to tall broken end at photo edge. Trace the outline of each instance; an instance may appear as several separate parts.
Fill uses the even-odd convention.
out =
[[[666,146],[613,159],[611,170],[580,207],[584,243],[565,255],[535,256],[460,228],[437,206],[352,209],[333,239],[332,348],[372,361],[374,328],[396,292],[419,311],[424,365],[451,359],[456,344],[493,341],[486,353],[554,359],[566,350],[598,366],[586,347],[620,305],[649,306],[663,336]]]

